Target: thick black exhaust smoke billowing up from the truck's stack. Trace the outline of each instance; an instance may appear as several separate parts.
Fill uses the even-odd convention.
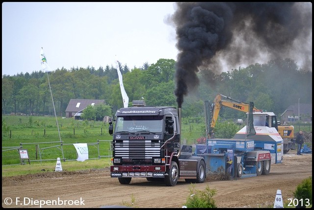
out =
[[[200,70],[207,70],[202,75],[214,85],[214,77],[223,66],[237,68],[243,62],[292,57],[302,58],[303,66],[312,68],[311,2],[176,5],[171,21],[176,27],[179,50],[175,77],[178,107],[182,107],[183,96],[198,86],[196,73]]]

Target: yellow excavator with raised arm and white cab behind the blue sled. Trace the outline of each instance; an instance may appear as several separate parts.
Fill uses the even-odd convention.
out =
[[[248,113],[250,105],[245,102],[239,102],[231,97],[217,94],[213,103],[210,104],[209,101],[205,101],[206,124],[207,124],[207,134],[209,138],[213,138],[214,127],[218,119],[219,111],[222,106],[229,107],[241,112]],[[281,126],[277,121],[277,116],[273,112],[266,112],[266,110],[260,110],[256,107],[253,108],[253,124],[254,126],[265,126],[268,128],[275,128],[279,133],[280,137],[284,140],[284,154],[288,153],[290,149],[295,149],[294,138],[294,127],[291,126]],[[240,131],[235,135],[239,138]]]

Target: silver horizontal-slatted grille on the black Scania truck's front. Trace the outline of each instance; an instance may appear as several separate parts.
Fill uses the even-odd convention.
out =
[[[113,142],[113,155],[130,159],[156,158],[160,157],[160,146],[160,140],[121,140]]]

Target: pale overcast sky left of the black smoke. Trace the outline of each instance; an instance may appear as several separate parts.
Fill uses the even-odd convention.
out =
[[[174,2],[2,2],[2,75],[174,59]]]

